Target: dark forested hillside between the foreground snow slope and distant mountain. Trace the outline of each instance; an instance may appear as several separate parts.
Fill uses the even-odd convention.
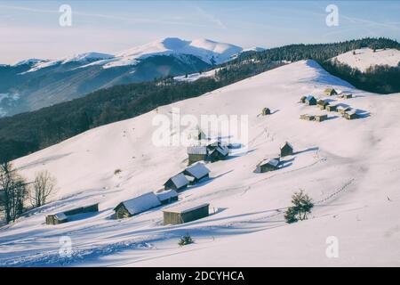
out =
[[[397,68],[377,67],[363,74],[328,61],[340,53],[363,47],[400,49],[399,43],[387,38],[364,38],[335,44],[287,45],[244,53],[236,60],[220,65],[215,77],[192,83],[175,82],[168,77],[149,83],[117,85],[42,110],[1,118],[0,159],[24,156],[90,128],[132,118],[157,106],[207,93],[281,66],[286,61],[313,59],[333,75],[343,77],[358,88],[378,93],[400,92]]]

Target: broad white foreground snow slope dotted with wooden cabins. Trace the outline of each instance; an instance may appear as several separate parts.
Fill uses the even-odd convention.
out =
[[[326,87],[350,92],[342,100],[364,118],[336,113],[323,123],[300,120],[323,112],[299,103],[303,94],[323,97]],[[248,115],[249,149],[207,164],[210,179],[180,193],[171,206],[211,203],[212,215],[163,225],[161,208],[116,221],[112,209],[125,199],[159,189],[187,165],[186,148],[156,147],[157,114]],[[258,116],[263,107],[272,115]],[[58,199],[0,229],[0,265],[400,265],[400,94],[356,90],[314,61],[267,71],[203,96],[176,102],[79,134],[17,159],[22,175],[48,169],[58,179]],[[211,130],[212,132],[212,130]],[[296,153],[276,172],[254,174],[284,141]],[[122,172],[114,175],[116,169]],[[316,207],[308,221],[285,224],[284,208],[304,189]],[[44,216],[100,202],[98,214],[46,226]],[[180,248],[189,232],[196,243]],[[72,258],[60,257],[59,239],[72,240]],[[326,238],[339,239],[339,258],[325,256]]]

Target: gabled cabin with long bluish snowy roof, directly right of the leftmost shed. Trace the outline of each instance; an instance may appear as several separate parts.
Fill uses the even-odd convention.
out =
[[[133,199],[128,199],[119,203],[114,211],[116,211],[116,218],[123,219],[143,213],[151,208],[161,206],[160,200],[153,192],[140,195]]]

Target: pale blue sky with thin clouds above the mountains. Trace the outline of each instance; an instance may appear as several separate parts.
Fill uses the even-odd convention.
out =
[[[72,27],[60,27],[60,4]],[[339,26],[328,27],[328,4]],[[162,37],[209,38],[244,47],[334,42],[360,37],[400,41],[400,1],[1,1],[0,62],[113,53]]]

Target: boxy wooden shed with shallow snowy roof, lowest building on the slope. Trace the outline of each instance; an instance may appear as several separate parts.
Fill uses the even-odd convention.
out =
[[[184,224],[209,216],[210,204],[180,206],[164,209],[164,224]]]

